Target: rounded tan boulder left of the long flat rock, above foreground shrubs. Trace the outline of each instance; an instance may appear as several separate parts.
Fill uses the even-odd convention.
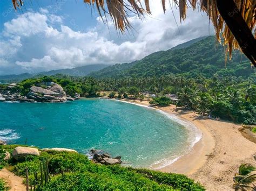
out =
[[[14,151],[12,151],[12,157],[14,157],[16,160],[24,160],[27,155],[39,156],[38,149],[31,148],[31,147],[17,146],[14,149]]]

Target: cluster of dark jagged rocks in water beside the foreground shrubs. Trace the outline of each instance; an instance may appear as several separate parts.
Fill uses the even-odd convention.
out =
[[[90,155],[92,156],[92,161],[103,165],[116,165],[122,163],[120,156],[112,158],[109,153],[106,153],[103,150],[92,149]]]

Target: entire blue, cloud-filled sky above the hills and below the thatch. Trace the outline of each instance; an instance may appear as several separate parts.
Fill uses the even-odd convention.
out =
[[[17,11],[2,0],[0,75],[131,62],[214,34],[205,13],[188,9],[180,22],[176,8],[167,4],[164,14],[160,0],[151,2],[152,14],[140,19],[131,13],[132,29],[122,34],[82,0],[27,0]]]

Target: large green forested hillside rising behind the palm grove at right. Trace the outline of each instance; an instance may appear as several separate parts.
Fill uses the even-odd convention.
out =
[[[183,44],[177,47],[178,49],[174,47],[150,54],[142,60],[109,66],[89,75],[93,77],[146,77],[167,74],[212,77],[216,73],[221,76],[255,75],[250,61],[239,51],[233,52],[232,60],[228,60],[225,66],[224,47],[218,45],[213,36],[188,44],[188,47]]]

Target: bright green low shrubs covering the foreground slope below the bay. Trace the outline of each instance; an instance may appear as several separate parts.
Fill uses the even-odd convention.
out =
[[[6,145],[11,152],[17,145]],[[204,190],[203,186],[185,175],[133,169],[119,165],[93,164],[85,155],[73,152],[42,152],[38,157],[30,156],[22,162],[11,159],[9,169],[25,177],[35,186],[41,177],[41,162],[48,161],[49,180],[43,183],[43,190]]]

